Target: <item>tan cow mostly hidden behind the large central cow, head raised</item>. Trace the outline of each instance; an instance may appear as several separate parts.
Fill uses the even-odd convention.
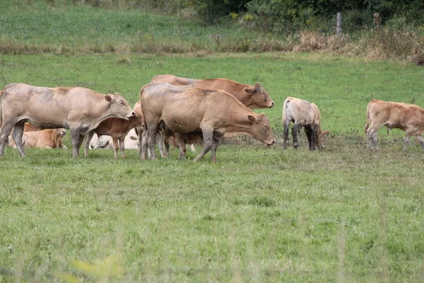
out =
[[[260,83],[254,86],[237,83],[230,79],[186,79],[173,75],[158,75],[151,79],[151,83],[170,83],[174,86],[192,86],[196,88],[223,90],[231,93],[237,100],[250,109],[272,108],[275,103]]]

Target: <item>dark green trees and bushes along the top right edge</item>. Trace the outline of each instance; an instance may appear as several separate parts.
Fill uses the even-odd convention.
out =
[[[172,0],[170,0],[172,1]],[[343,13],[346,30],[357,30],[373,23],[379,13],[382,24],[423,25],[423,0],[192,0],[206,21],[219,21],[229,13],[249,13],[264,29],[293,31],[302,28],[329,31],[337,12]]]

